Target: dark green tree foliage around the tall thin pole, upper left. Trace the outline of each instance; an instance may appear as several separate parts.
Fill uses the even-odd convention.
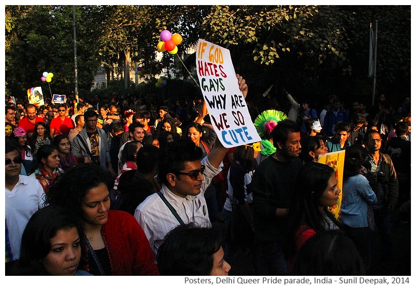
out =
[[[52,93],[71,94],[74,84],[73,6],[8,6],[11,18],[6,33],[6,80],[13,94],[24,97],[26,89],[41,86],[48,96],[49,86],[42,73],[54,74]],[[78,20],[83,10],[77,11]],[[88,39],[90,33],[78,31],[77,58],[80,88],[90,88],[99,66],[97,51]]]

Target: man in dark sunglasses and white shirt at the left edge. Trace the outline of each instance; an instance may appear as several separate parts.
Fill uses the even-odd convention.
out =
[[[6,143],[5,216],[6,275],[20,255],[20,243],[27,221],[45,202],[41,184],[36,178],[20,175],[22,157],[16,142]]]

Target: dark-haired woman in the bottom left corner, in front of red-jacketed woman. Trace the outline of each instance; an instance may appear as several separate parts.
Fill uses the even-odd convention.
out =
[[[29,219],[14,275],[91,275],[81,270],[84,228],[71,210],[46,206]]]

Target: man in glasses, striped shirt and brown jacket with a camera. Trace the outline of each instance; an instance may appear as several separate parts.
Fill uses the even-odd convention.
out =
[[[399,182],[392,159],[388,154],[380,152],[382,146],[380,134],[375,130],[369,130],[364,135],[364,144],[368,151],[364,167],[369,173],[367,179],[377,197],[377,202],[371,204],[371,208],[380,236],[380,250],[383,259],[390,259],[393,252],[390,215],[397,204]]]

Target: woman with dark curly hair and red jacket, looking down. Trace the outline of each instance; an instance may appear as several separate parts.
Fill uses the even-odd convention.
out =
[[[46,200],[73,210],[85,229],[88,262],[94,275],[158,275],[148,239],[135,218],[110,210],[109,176],[96,164],[80,164],[51,185]]]

